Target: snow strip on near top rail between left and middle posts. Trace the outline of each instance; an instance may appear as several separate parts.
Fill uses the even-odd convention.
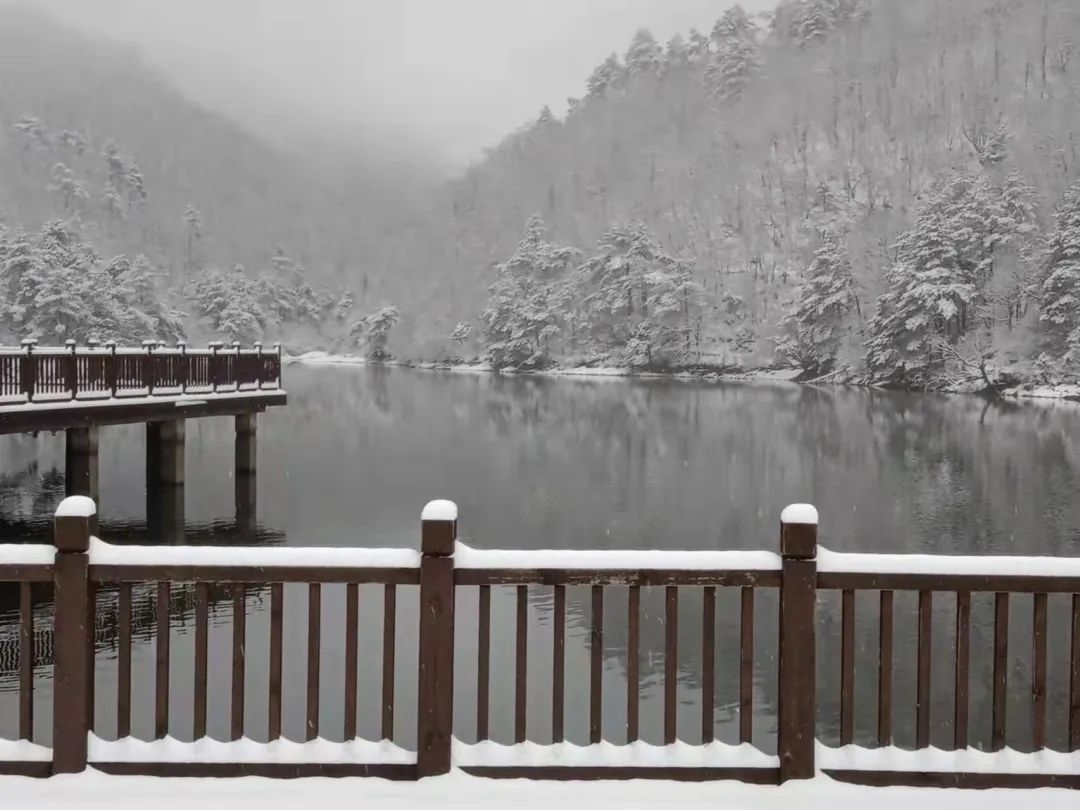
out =
[[[90,564],[111,566],[206,566],[244,568],[418,568],[411,549],[346,549],[215,545],[112,545],[90,539]]]

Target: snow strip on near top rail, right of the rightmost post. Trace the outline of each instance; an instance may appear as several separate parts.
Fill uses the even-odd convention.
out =
[[[1080,557],[852,554],[819,546],[818,571],[963,577],[1080,577]]]

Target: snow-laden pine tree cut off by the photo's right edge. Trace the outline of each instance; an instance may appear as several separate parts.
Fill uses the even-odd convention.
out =
[[[1080,363],[1080,185],[1066,192],[1055,219],[1039,323],[1051,356]]]

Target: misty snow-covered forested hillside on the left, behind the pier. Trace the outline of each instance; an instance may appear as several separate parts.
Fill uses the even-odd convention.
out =
[[[330,339],[354,296],[379,302],[363,256],[392,207],[347,176],[200,109],[135,48],[0,8],[0,338]]]

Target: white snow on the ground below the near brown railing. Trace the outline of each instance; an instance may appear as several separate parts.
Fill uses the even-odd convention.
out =
[[[737,782],[526,782],[485,780],[454,772],[420,782],[377,779],[153,779],[108,777],[96,771],[32,780],[0,777],[5,807],[33,810],[388,810],[460,807],[470,810],[552,808],[710,808],[715,810],[1074,810],[1071,791],[940,791],[915,787],[858,787],[819,778],[783,787]]]

